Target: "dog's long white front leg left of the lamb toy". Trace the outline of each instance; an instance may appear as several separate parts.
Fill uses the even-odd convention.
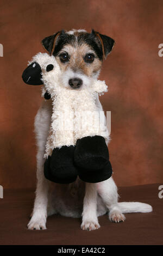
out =
[[[51,123],[52,103],[43,101],[35,118],[35,133],[37,140],[37,187],[32,218],[28,223],[28,229],[46,229],[48,185],[49,181],[43,173],[45,160],[45,144],[47,141],[49,125]]]

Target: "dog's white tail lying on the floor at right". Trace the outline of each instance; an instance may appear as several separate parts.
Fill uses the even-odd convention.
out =
[[[122,202],[118,203],[123,214],[129,214],[130,212],[152,212],[152,206],[139,202]]]

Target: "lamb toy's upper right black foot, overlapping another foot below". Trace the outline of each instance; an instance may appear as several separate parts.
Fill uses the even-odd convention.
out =
[[[87,136],[77,140],[74,162],[79,168],[100,170],[109,163],[109,151],[102,136]]]

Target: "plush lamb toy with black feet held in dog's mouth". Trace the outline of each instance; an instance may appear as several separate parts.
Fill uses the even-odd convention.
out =
[[[79,89],[65,88],[54,56],[38,53],[22,78],[27,84],[43,83],[42,94],[53,102],[45,151],[44,173],[57,183],[70,183],[77,175],[85,182],[110,178],[112,168],[105,143],[107,130],[99,121],[96,94],[106,92],[104,81],[92,79]]]

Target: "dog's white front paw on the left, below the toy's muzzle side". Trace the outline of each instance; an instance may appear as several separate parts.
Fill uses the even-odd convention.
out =
[[[42,230],[46,229],[46,216],[35,217],[33,216],[27,225],[29,230]]]

